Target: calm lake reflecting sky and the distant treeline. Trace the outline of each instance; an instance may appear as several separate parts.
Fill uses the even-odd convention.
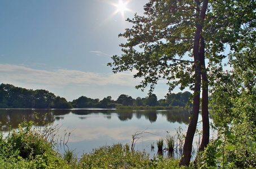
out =
[[[37,112],[36,118],[33,114]],[[0,109],[1,131],[4,136],[11,125],[34,121],[38,126],[53,123],[59,127],[58,143],[68,139],[68,149],[74,150],[77,157],[92,152],[99,146],[122,143],[131,146],[132,135],[144,131],[137,140],[134,149],[146,150],[150,157],[157,154],[157,140],[167,135],[177,136],[176,129],[185,134],[189,123],[189,110],[120,110],[120,109]],[[199,115],[198,121],[201,121]],[[201,123],[198,123],[201,130]],[[65,133],[67,135],[65,136]],[[68,134],[70,137],[68,138]],[[194,143],[199,137],[194,138]],[[175,137],[177,140],[177,137]],[[151,150],[154,144],[154,150]],[[63,144],[58,144],[60,153],[64,152]],[[66,147],[67,149],[67,147]]]

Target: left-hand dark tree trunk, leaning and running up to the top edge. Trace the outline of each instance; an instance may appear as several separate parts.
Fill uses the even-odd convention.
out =
[[[198,21],[196,23],[196,34],[194,36],[194,46],[193,46],[193,56],[194,56],[194,66],[195,66],[195,76],[196,81],[194,84],[194,102],[193,102],[193,112],[191,121],[188,126],[188,131],[186,132],[185,143],[183,146],[183,155],[180,159],[180,166],[188,166],[191,158],[192,145],[194,134],[196,132],[199,105],[200,105],[200,91],[201,91],[201,63],[200,63],[200,51],[204,51],[204,48],[200,48],[201,32],[203,29],[203,21],[205,20],[205,14],[207,10],[208,0],[203,0],[203,5],[200,10],[201,2],[195,0],[197,3],[196,13],[198,15]],[[203,54],[204,55],[204,54]]]

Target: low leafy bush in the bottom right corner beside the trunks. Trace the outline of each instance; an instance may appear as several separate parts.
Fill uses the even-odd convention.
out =
[[[244,143],[241,143],[244,142]],[[205,152],[198,154],[200,168],[253,168],[255,161],[256,143],[241,140],[228,128],[221,132],[218,139],[209,144]]]

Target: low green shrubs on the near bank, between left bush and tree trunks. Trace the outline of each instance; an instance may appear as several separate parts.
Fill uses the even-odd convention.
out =
[[[102,146],[90,154],[84,154],[80,159],[78,168],[189,168],[179,167],[179,161],[166,159],[162,156],[149,159],[145,152],[131,151],[129,146],[114,144]]]

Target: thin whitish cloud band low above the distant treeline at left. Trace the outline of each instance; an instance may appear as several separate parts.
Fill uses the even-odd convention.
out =
[[[57,69],[53,71],[27,68],[22,65],[0,64],[2,83],[44,84],[52,87],[60,86],[135,86],[140,83],[131,72],[127,73],[94,73],[80,70]]]

